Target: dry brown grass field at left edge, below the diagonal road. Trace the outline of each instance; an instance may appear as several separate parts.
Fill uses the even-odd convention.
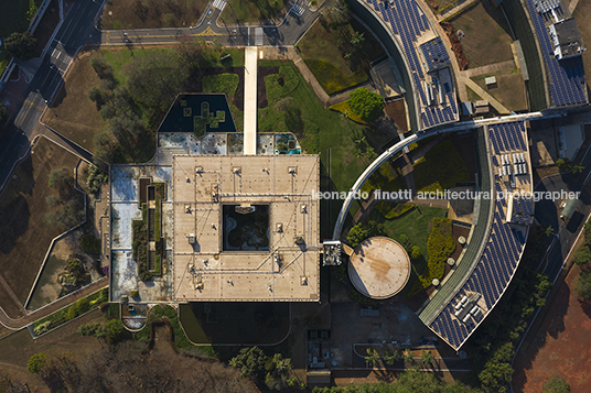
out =
[[[73,171],[77,162],[76,156],[42,138],[0,194],[1,274],[23,304],[51,240],[61,233],[43,219],[45,198],[55,193],[47,185],[50,172],[63,166]],[[12,304],[0,293],[0,305],[14,317],[15,308],[9,308]]]

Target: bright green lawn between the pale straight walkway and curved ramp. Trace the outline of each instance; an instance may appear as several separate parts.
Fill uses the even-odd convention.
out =
[[[327,174],[330,149],[332,190],[348,190],[375,157],[375,153],[370,157],[355,157],[354,135],[374,131],[347,120],[342,113],[323,108],[292,62],[262,61],[259,65],[280,67],[279,74],[265,78],[269,105],[258,110],[259,131],[294,132],[302,149],[308,153],[320,153],[321,175]],[[327,187],[329,182],[321,179],[321,189],[327,190]],[[323,211],[326,211],[326,200],[321,203]],[[332,223],[341,205],[341,200],[331,201]],[[350,211],[353,214],[357,207],[355,201]],[[322,236],[332,234],[332,223],[327,222],[327,212],[323,215]]]

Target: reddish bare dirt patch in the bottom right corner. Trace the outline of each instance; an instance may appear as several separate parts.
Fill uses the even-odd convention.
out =
[[[527,348],[515,361],[515,392],[541,392],[551,375],[570,384],[571,392],[591,391],[591,305],[577,298],[574,282],[581,269],[573,266]]]

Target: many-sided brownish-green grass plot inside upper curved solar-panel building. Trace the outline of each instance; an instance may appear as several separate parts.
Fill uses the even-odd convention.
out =
[[[363,48],[355,53],[350,44],[354,32],[365,39]],[[321,20],[316,21],[298,43],[298,50],[329,95],[367,81],[369,63],[385,54],[373,35],[355,20],[339,30],[327,29]],[[345,58],[347,52],[350,59]]]

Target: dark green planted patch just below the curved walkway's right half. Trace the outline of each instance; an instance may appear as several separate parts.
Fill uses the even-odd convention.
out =
[[[456,183],[470,182],[464,160],[450,140],[439,143],[417,161],[412,172],[417,192],[445,190]]]

